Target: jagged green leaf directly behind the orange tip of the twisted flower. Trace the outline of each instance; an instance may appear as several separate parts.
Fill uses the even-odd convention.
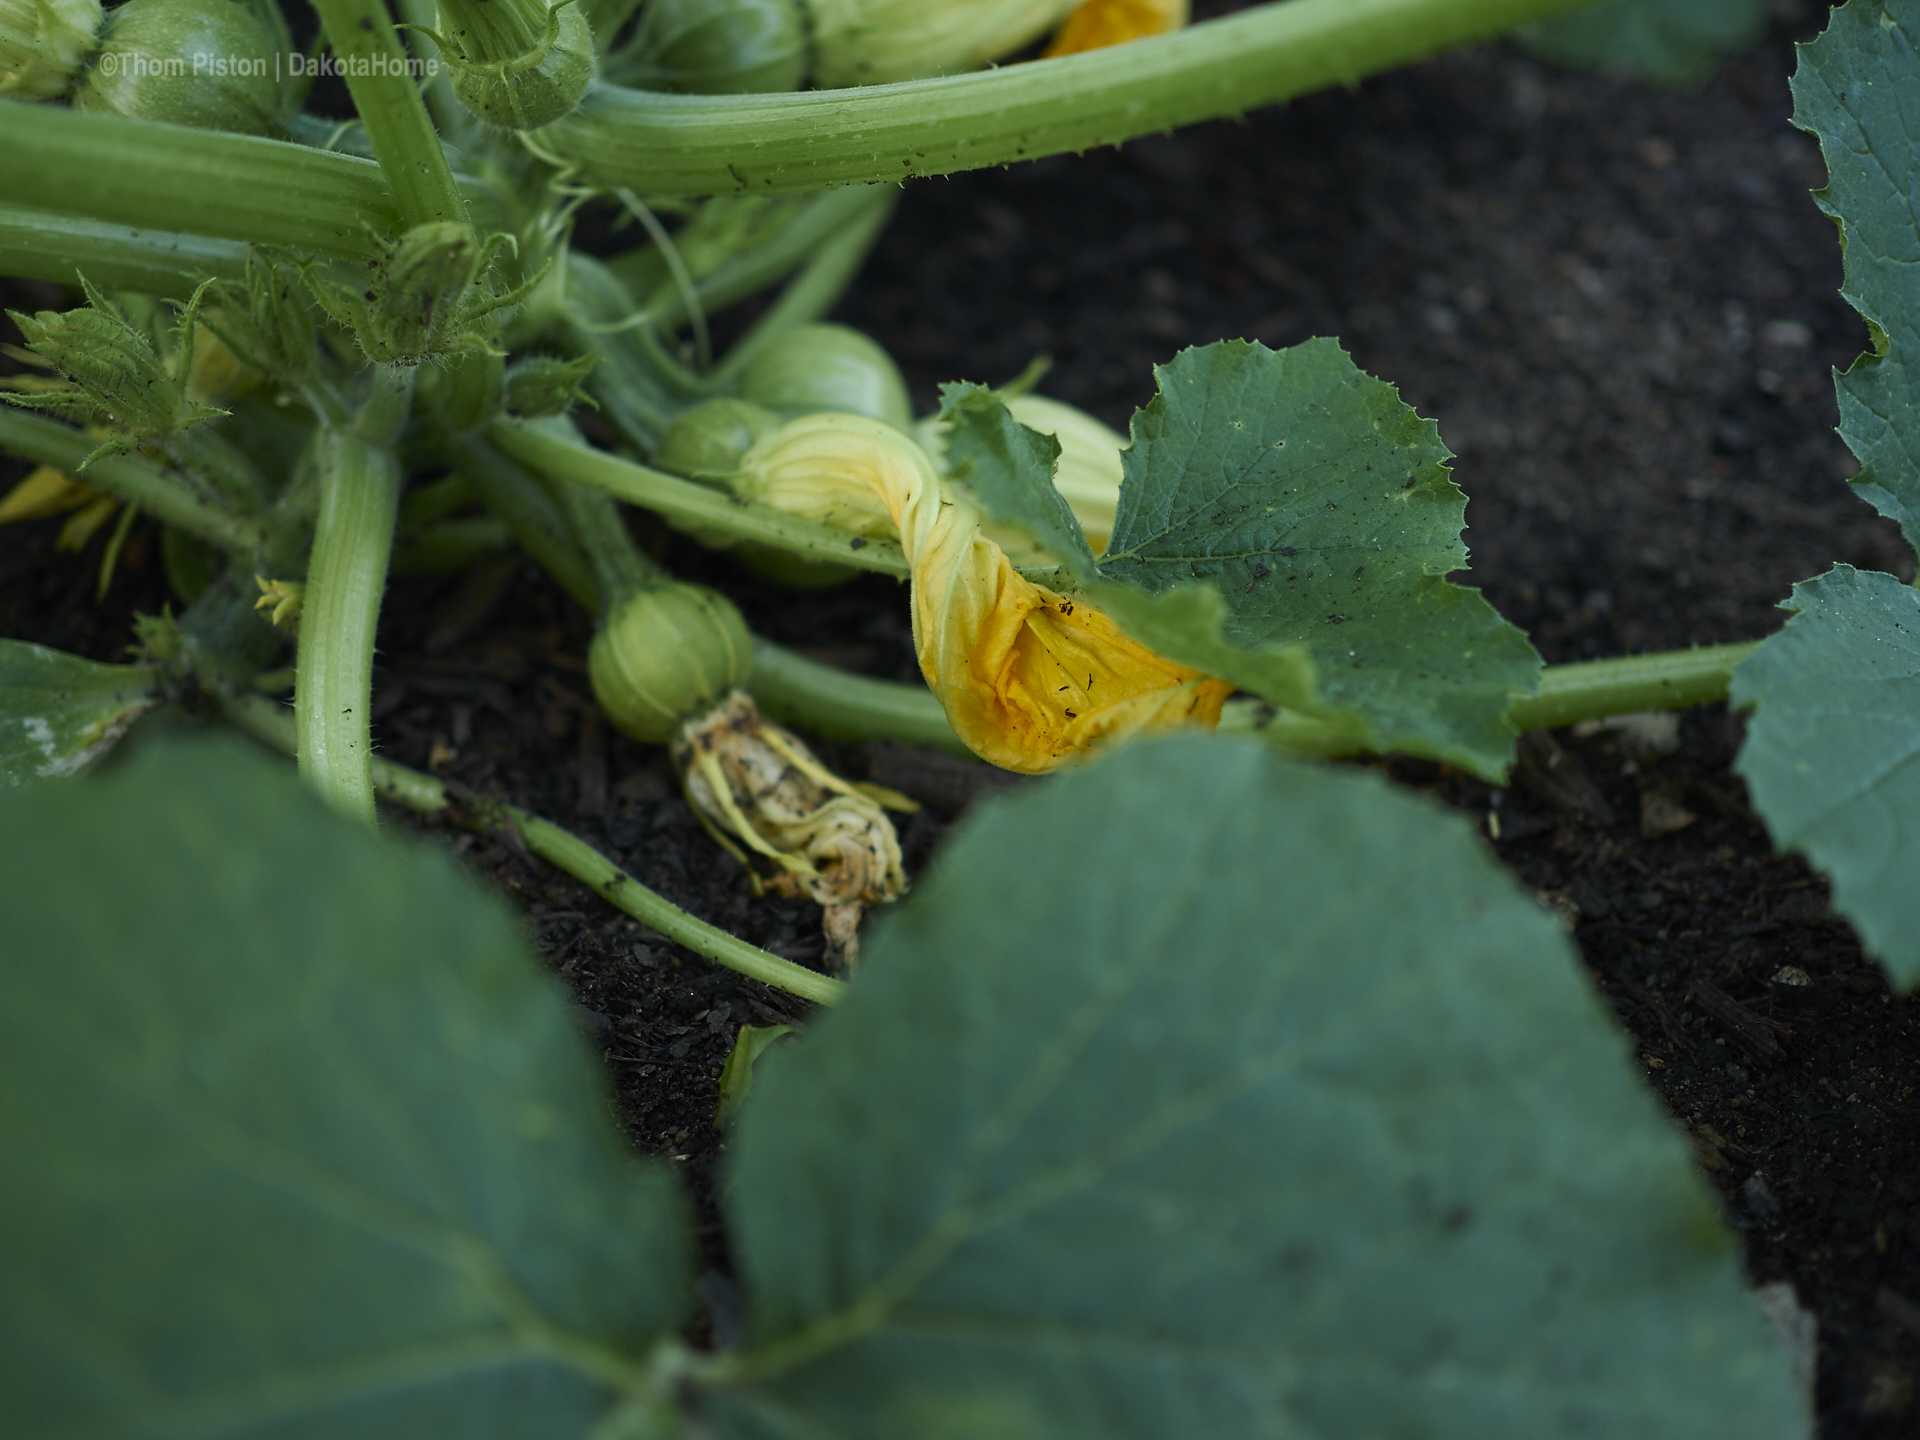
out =
[[[1432,420],[1332,340],[1227,340],[1158,378],[1094,599],[1167,659],[1359,745],[1501,776],[1540,657],[1444,578],[1467,564],[1467,497]]]

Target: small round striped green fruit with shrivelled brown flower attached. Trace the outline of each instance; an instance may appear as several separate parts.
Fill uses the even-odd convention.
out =
[[[588,653],[593,699],[634,739],[664,743],[680,722],[747,680],[753,636],[733,601],[668,582],[612,607]]]

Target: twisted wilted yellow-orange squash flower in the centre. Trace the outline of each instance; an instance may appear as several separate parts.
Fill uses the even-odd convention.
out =
[[[858,534],[891,518],[914,566],[914,651],[954,733],[1025,774],[1142,730],[1215,724],[1233,693],[1173,664],[1092,605],[1025,580],[912,440],[854,415],[808,415],[741,461],[735,493]],[[876,505],[877,501],[877,505]]]

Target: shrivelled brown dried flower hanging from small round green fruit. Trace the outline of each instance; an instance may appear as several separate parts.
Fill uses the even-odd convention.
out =
[[[860,914],[906,893],[900,841],[881,801],[893,808],[914,803],[847,783],[737,689],[684,722],[670,753],[707,833],[749,872],[755,854],[772,862],[764,883],[776,895],[816,900],[826,910],[828,945],[852,964]]]

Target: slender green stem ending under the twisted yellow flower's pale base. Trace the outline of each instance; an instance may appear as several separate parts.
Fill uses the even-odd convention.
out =
[[[649,470],[591,445],[563,440],[530,424],[495,420],[488,438],[507,455],[549,480],[605,490],[614,499],[655,511],[668,520],[718,530],[735,540],[793,551],[808,561],[852,564],[906,578],[906,555],[891,540],[849,538],[831,526],[799,520],[766,505],[749,505],[691,480]]]

